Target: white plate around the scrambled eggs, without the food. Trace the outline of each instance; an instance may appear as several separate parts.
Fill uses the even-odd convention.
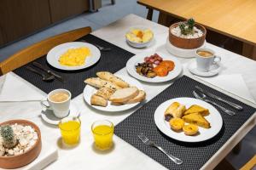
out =
[[[81,48],[86,47],[90,48],[90,56],[86,57],[85,64],[79,65],[79,66],[65,66],[61,65],[59,63],[59,58],[61,54],[64,54],[67,49],[69,48]],[[91,65],[96,64],[96,62],[101,58],[101,52],[98,48],[96,48],[94,45],[91,45],[87,42],[67,42],[62,43],[61,45],[56,46],[55,48],[52,48],[49,53],[47,54],[47,62],[49,65],[65,71],[76,71],[80,69],[85,69],[87,67],[90,67]]]

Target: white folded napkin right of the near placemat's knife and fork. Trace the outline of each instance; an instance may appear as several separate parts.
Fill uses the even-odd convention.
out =
[[[225,91],[228,91],[232,94],[236,94],[243,99],[247,99],[253,103],[255,100],[250,94],[249,89],[247,88],[246,83],[244,82],[241,74],[232,74],[232,75],[219,75],[217,77],[198,77],[203,81],[209,82],[218,88],[222,88]]]

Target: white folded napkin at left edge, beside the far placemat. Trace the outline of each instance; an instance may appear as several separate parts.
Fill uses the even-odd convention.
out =
[[[44,95],[32,88],[27,82],[15,77],[12,73],[8,73],[1,77],[3,85],[0,91],[0,101],[26,101],[41,100]]]

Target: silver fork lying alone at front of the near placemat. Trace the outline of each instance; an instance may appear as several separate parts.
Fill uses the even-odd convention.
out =
[[[155,147],[157,149],[159,149],[161,152],[163,152],[164,154],[166,154],[166,156],[168,156],[172,161],[174,161],[176,164],[182,164],[183,161],[180,160],[179,158],[177,158],[176,156],[172,156],[171,154],[169,154],[168,152],[166,152],[166,150],[164,150],[162,147],[160,147],[158,144],[155,144],[152,140],[148,139],[147,136],[145,136],[143,133],[139,133],[137,135],[137,137],[139,139],[141,139],[143,141],[144,144],[147,144],[149,146]]]

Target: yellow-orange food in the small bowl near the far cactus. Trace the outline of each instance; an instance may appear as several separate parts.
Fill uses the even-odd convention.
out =
[[[149,29],[131,29],[125,36],[131,42],[149,42],[153,38],[153,32]]]

